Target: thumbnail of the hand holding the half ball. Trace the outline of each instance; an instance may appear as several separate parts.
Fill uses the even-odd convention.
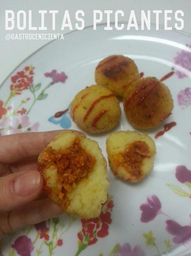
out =
[[[40,184],[40,173],[37,171],[27,172],[20,175],[14,182],[13,191],[18,196],[32,195]]]

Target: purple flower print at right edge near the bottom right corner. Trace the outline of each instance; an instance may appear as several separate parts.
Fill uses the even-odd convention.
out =
[[[174,243],[183,243],[186,247],[191,247],[191,226],[181,226],[175,221],[168,220],[166,221],[166,231],[174,236],[172,239]]]

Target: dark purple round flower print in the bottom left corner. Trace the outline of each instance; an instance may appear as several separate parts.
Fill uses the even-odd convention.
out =
[[[30,256],[34,249],[31,239],[27,236],[18,237],[11,247],[14,248],[20,256]]]

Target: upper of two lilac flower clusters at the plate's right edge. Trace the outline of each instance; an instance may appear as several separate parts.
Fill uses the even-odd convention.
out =
[[[191,45],[187,47],[191,48]],[[188,71],[191,71],[191,52],[190,51],[178,52],[177,56],[174,57],[174,63],[178,66],[181,66],[182,68],[187,69]],[[186,77],[186,74],[178,70],[175,71],[175,74],[178,76],[178,78]]]

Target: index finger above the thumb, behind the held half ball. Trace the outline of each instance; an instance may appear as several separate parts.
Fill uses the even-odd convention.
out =
[[[26,132],[0,137],[0,162],[8,164],[39,155],[61,131]]]

